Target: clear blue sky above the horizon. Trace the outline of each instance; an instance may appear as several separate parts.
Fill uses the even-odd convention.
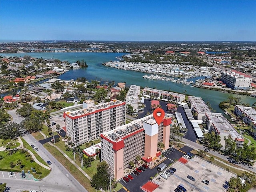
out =
[[[0,39],[256,41],[256,1],[0,0]]]

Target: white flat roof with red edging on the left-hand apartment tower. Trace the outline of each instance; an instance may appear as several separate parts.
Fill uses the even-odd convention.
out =
[[[89,102],[89,100],[86,100],[87,102]],[[94,101],[92,101],[94,102]],[[88,113],[93,113],[97,110],[102,110],[102,109],[106,109],[106,108],[109,108],[109,107],[114,107],[114,106],[117,106],[119,104],[122,104],[124,102],[122,101],[119,101],[119,100],[113,100],[113,101],[110,101],[110,102],[106,102],[106,103],[103,103],[103,104],[98,104],[98,105],[95,105],[95,106],[91,106],[90,108],[84,108],[84,109],[79,109],[79,110],[75,110],[75,111],[66,111],[65,113],[68,115],[68,116],[71,116],[71,117],[77,117],[77,116],[82,116],[82,115],[85,115],[85,114],[88,114]]]

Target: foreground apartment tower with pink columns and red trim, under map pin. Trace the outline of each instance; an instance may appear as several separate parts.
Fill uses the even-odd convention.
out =
[[[149,115],[100,135],[102,160],[109,164],[117,180],[136,156],[152,164],[161,155],[158,142],[164,143],[164,150],[169,147],[171,123],[172,118],[166,115],[158,126],[153,115]]]

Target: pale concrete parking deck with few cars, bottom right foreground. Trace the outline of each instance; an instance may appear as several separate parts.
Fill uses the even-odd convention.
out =
[[[230,178],[236,176],[197,156],[194,156],[187,164],[177,161],[172,167],[177,171],[167,180],[162,177],[154,178],[153,181],[160,185],[154,192],[174,191],[178,185],[186,188],[187,192],[223,192]],[[188,175],[194,177],[195,181],[188,179]],[[210,184],[202,183],[203,179],[208,180]]]

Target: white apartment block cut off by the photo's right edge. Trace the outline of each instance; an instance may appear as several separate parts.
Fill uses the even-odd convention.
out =
[[[234,109],[234,113],[242,120],[250,125],[252,124],[252,136],[256,136],[256,110],[254,110],[252,107],[245,107],[243,105],[236,105]]]

